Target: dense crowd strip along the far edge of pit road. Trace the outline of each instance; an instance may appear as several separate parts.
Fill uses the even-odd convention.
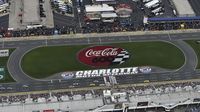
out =
[[[127,23],[127,22],[126,22]],[[89,24],[83,25],[81,29],[75,26],[62,26],[55,28],[31,28],[24,30],[12,30],[0,28],[0,37],[25,37],[25,36],[42,36],[42,35],[63,35],[63,34],[76,34],[76,33],[110,33],[110,32],[123,32],[123,31],[155,31],[155,30],[178,30],[178,29],[199,29],[200,21],[191,22],[169,22],[169,23],[149,23],[135,27],[134,24],[128,22],[116,21],[114,23],[103,23],[103,22],[90,22]],[[81,31],[81,32],[80,32]]]

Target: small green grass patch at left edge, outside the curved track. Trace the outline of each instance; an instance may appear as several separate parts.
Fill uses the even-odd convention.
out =
[[[13,51],[14,51],[14,49],[10,49],[9,53],[11,54]],[[0,83],[14,82],[13,78],[10,76],[10,74],[8,72],[7,61],[8,61],[8,57],[0,57],[0,67],[5,68],[5,78],[0,80]]]

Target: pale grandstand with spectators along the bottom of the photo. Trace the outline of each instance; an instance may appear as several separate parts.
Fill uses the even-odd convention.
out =
[[[3,112],[198,112],[200,83],[143,85],[112,90],[1,94]]]

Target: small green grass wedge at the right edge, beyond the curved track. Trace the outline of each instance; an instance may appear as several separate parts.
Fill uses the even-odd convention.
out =
[[[200,60],[200,41],[199,40],[186,40],[186,42],[194,49],[197,54],[198,60]],[[200,69],[200,63],[198,61],[197,69]]]

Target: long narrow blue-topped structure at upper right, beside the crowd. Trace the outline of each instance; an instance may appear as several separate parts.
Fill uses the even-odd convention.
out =
[[[200,16],[196,16],[196,17],[174,17],[174,18],[148,18],[148,22],[192,21],[192,20],[200,20]]]

